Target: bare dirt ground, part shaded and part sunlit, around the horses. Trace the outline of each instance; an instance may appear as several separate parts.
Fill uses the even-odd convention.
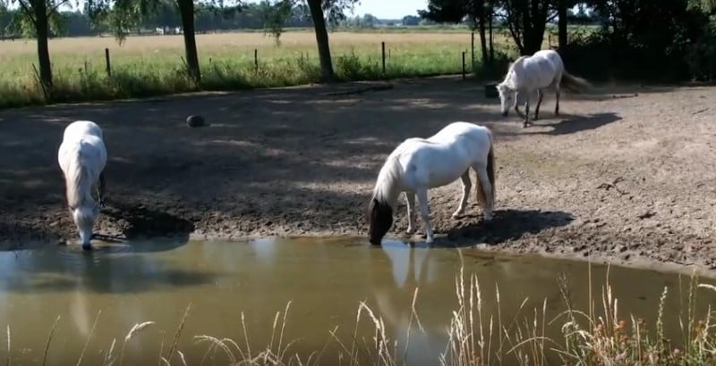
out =
[[[363,212],[389,152],[471,121],[496,136],[496,219],[483,225],[471,195],[467,215],[453,220],[459,183],[431,190],[436,245],[716,268],[716,88],[601,87],[563,95],[558,117],[548,93],[541,120],[522,129],[476,81],[391,85],[0,112],[0,236],[14,246],[76,237],[56,162],[74,120],[105,131],[108,207],[98,233],[127,239],[366,236]],[[191,113],[210,126],[187,127]],[[396,213],[388,237],[406,239],[402,198]]]

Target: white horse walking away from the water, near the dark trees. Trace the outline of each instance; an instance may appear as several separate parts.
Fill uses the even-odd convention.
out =
[[[562,83],[564,81],[564,83]],[[560,86],[560,84],[562,84]],[[559,115],[559,92],[560,87],[567,90],[579,92],[590,84],[565,70],[562,58],[554,50],[541,50],[532,56],[521,56],[513,62],[507,70],[505,79],[497,86],[499,100],[502,104],[502,115],[507,117],[510,107],[517,107],[517,96],[524,96],[524,122],[523,127],[531,124],[530,120],[530,95],[537,90],[537,106],[534,108],[534,119],[538,119],[540,104],[542,103],[542,89],[554,87],[557,100],[554,113]]]

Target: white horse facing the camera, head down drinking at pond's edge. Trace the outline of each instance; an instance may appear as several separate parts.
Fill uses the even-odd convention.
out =
[[[74,121],[64,129],[57,152],[57,162],[64,174],[67,204],[85,250],[92,248],[92,228],[105,194],[107,150],[103,138],[102,129],[96,123]],[[92,197],[93,189],[97,191],[98,202]]]

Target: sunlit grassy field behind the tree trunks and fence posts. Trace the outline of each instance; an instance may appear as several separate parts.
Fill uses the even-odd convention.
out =
[[[185,72],[182,36],[129,37],[123,46],[111,37],[51,39],[52,100],[79,102],[308,84],[320,76],[315,42],[311,31],[287,32],[280,46],[257,32],[198,35],[202,82],[197,86]],[[464,51],[470,71],[469,32],[335,32],[330,42],[341,80],[459,73]],[[385,75],[381,42],[386,45]],[[33,67],[37,64],[35,41],[4,41],[2,48],[0,108],[46,103]]]

